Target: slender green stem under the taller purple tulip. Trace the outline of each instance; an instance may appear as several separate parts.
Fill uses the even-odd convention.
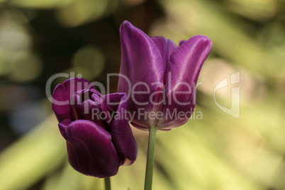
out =
[[[147,167],[145,169],[145,190],[152,189],[153,164],[155,162],[155,138],[157,127],[152,126],[148,136]]]

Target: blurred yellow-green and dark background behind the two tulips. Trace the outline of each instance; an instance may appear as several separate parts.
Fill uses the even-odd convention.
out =
[[[0,190],[103,189],[75,172],[45,95],[47,80],[75,72],[107,85],[121,62],[124,20],[179,43],[213,41],[186,125],[157,133],[153,189],[285,189],[285,1],[1,0]],[[240,72],[240,118],[216,106],[214,88]],[[65,78],[55,79],[50,91]],[[117,79],[111,80],[116,91]],[[230,107],[230,88],[216,101]],[[138,161],[113,189],[143,189],[147,132],[134,129]]]

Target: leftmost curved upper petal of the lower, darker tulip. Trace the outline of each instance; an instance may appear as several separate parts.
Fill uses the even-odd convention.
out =
[[[73,108],[70,105],[70,97],[75,91],[81,89],[94,89],[94,86],[86,79],[71,78],[55,87],[52,94],[52,110],[59,122],[65,119],[75,120]]]

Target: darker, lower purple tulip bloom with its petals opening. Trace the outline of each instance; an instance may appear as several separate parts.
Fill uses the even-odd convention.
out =
[[[67,79],[52,95],[52,110],[67,142],[69,163],[82,174],[111,177],[132,164],[137,144],[123,115],[125,93],[102,96],[86,79]]]

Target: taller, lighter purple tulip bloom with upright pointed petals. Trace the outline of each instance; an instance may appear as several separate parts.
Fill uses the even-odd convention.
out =
[[[177,47],[164,37],[148,37],[124,21],[120,28],[121,76],[118,91],[128,93],[131,123],[148,130],[179,127],[195,107],[195,87],[211,40],[196,35]]]

